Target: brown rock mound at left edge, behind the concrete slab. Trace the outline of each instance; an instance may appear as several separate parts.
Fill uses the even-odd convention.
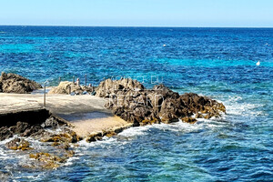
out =
[[[42,88],[40,84],[23,76],[4,72],[0,76],[0,92],[26,94],[39,88]]]

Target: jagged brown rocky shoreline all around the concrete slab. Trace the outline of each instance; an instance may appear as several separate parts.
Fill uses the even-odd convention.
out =
[[[0,76],[0,92],[25,94],[42,86],[23,76],[2,73]],[[77,142],[85,139],[87,142],[101,140],[104,136],[110,137],[122,132],[130,126],[145,126],[160,123],[173,123],[179,120],[194,124],[197,118],[219,117],[226,112],[222,103],[207,96],[187,93],[179,95],[163,85],[146,89],[145,86],[132,79],[106,79],[97,87],[77,86],[71,82],[61,82],[49,91],[48,94],[96,95],[107,99],[106,108],[115,116],[128,122],[126,126],[109,128],[107,130],[90,133],[86,138],[77,136],[72,126],[49,111],[48,115],[23,119],[16,116],[0,117],[0,141],[7,149],[24,151],[32,162],[24,167],[56,168],[64,164],[69,157],[75,154]],[[11,114],[13,116],[15,114]],[[35,116],[38,117],[38,116]],[[4,121],[5,120],[5,121]],[[12,138],[12,139],[10,139]],[[33,147],[28,138],[33,138],[50,151]]]

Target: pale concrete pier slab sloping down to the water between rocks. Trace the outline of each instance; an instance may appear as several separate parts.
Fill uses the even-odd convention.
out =
[[[114,116],[105,108],[107,100],[96,96],[46,95],[46,110],[64,118],[79,136],[109,130],[114,127],[131,126]],[[13,120],[38,122],[45,112],[44,96],[41,94],[0,93],[0,126]],[[43,119],[41,119],[43,120]],[[14,123],[11,123],[13,125]]]

